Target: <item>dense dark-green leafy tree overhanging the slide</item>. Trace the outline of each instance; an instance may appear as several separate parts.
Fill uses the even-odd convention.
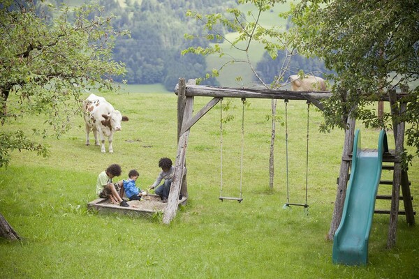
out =
[[[414,154],[403,157],[409,161],[418,156],[418,1],[303,0],[291,15],[293,45],[321,57],[336,72],[321,130],[346,128],[348,115],[367,126],[391,127],[392,116],[378,117],[369,105],[386,88],[410,86],[404,99],[409,101],[406,112],[394,120],[406,121],[406,143],[416,148]],[[330,239],[341,218],[341,213],[335,215]]]

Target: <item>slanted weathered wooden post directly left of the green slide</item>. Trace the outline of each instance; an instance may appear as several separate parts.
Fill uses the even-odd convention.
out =
[[[342,211],[344,210],[344,202],[346,197],[346,186],[349,180],[349,168],[351,167],[351,161],[344,160],[348,158],[349,154],[353,149],[353,134],[355,133],[355,119],[348,118],[347,128],[345,130],[345,143],[344,151],[342,152],[341,167],[339,172],[339,183],[337,186],[337,194],[335,200],[335,209],[333,210],[332,223],[330,224],[330,230],[328,239],[333,240],[337,227],[339,227]]]

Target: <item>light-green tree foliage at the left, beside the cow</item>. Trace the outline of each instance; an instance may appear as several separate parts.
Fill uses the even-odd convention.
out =
[[[99,6],[43,8],[39,13],[31,1],[1,1],[0,121],[7,126],[45,115],[59,137],[78,116],[85,89],[112,89],[113,79],[124,73],[124,64],[112,60],[112,48],[126,32],[115,31]],[[47,136],[50,128],[36,127],[34,133]],[[0,167],[15,149],[47,156],[47,148],[21,130],[2,130],[0,138]]]

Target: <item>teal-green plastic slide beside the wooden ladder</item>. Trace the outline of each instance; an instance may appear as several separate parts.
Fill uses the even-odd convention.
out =
[[[367,264],[369,233],[384,152],[388,152],[387,135],[384,130],[380,132],[378,150],[375,151],[362,151],[360,130],[355,131],[351,177],[346,190],[341,223],[333,241],[334,264]]]

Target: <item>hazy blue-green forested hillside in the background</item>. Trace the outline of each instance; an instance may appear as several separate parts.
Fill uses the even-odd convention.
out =
[[[119,38],[114,50],[115,61],[126,64],[124,77],[114,77],[117,82],[126,80],[128,84],[160,83],[172,91],[179,77],[204,77],[207,73],[205,57],[196,54],[182,56],[181,51],[190,46],[207,47],[209,42],[203,38],[208,30],[191,17],[187,10],[202,14],[225,13],[227,8],[237,6],[234,0],[50,0],[36,1],[40,13],[47,13],[48,3],[59,6],[81,3],[99,3],[105,13],[115,15],[112,25],[116,30],[127,29],[131,37]],[[41,11],[42,10],[42,11]],[[228,30],[214,27],[223,34]],[[185,33],[200,35],[194,40],[186,40]],[[281,54],[279,55],[279,57]],[[323,71],[324,64],[319,61],[295,56],[295,72],[304,70]],[[265,82],[271,82],[280,70],[282,62],[272,61],[264,55],[256,69]],[[204,80],[203,84],[220,85],[214,78]],[[223,85],[223,84],[221,84]]]

